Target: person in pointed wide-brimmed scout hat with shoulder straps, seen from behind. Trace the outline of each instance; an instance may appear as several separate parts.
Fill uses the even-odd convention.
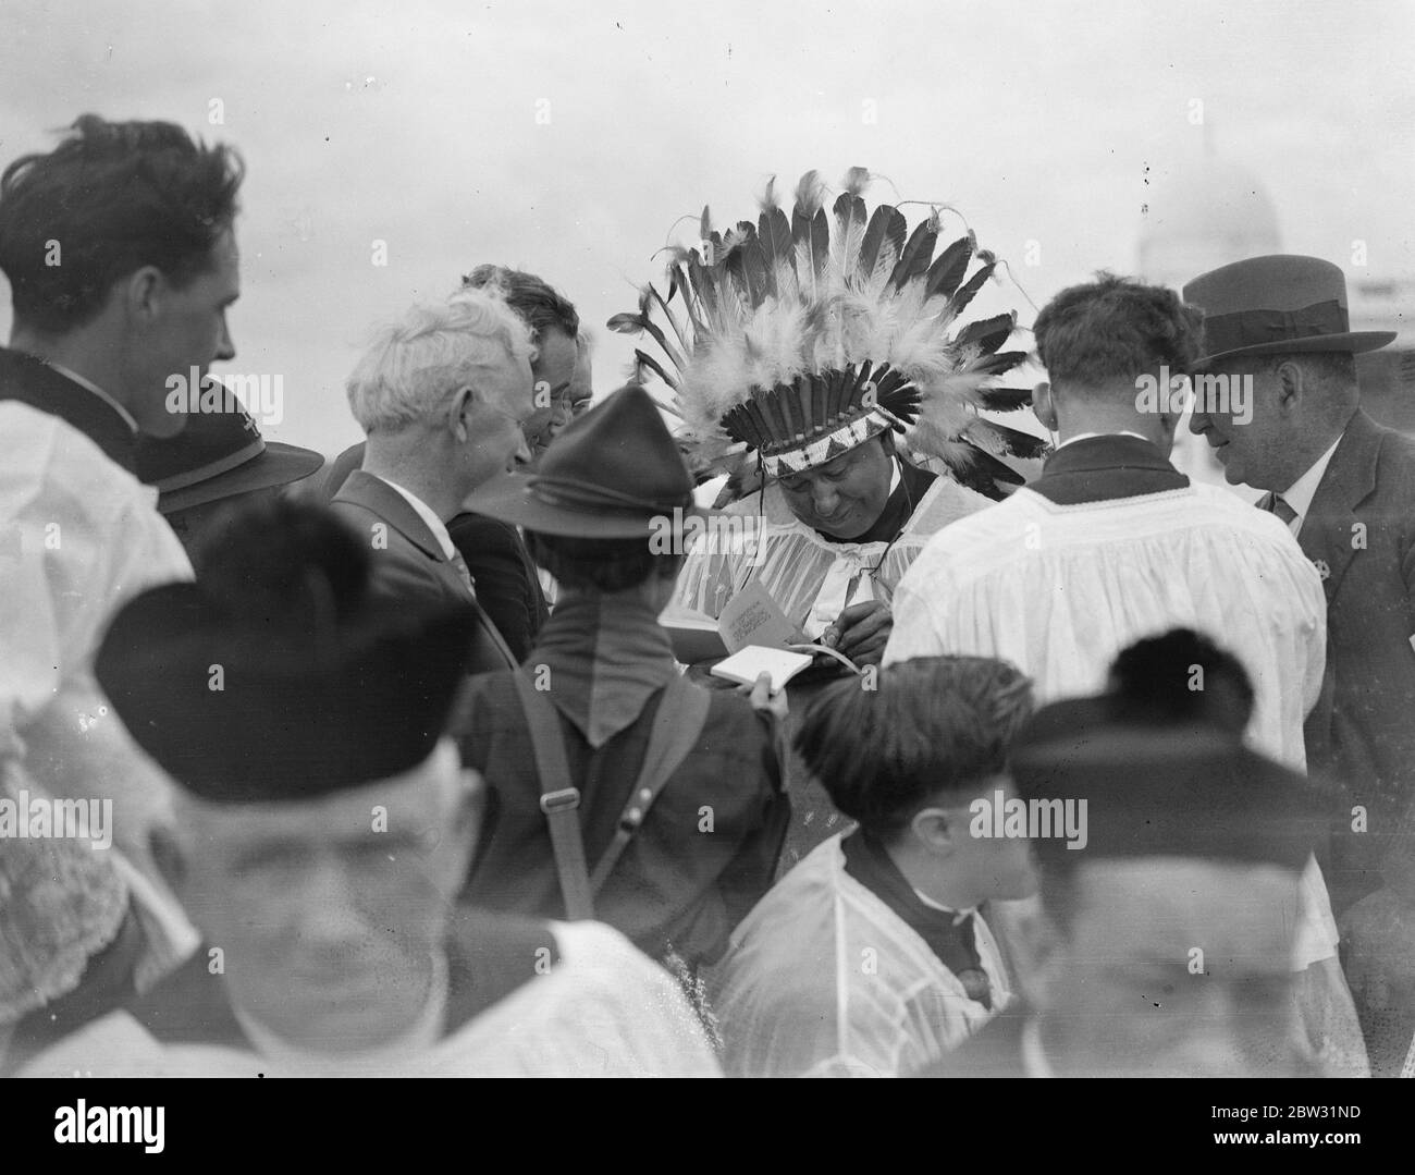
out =
[[[774,721],[681,677],[658,623],[696,514],[674,439],[630,385],[468,505],[526,528],[560,599],[521,668],[474,681],[458,719],[497,797],[464,898],[593,909],[692,982],[771,883],[790,803]],[[567,852],[584,864],[570,876]]]

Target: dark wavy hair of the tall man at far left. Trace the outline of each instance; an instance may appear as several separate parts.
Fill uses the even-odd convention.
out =
[[[231,147],[192,142],[175,123],[75,119],[58,147],[0,176],[0,269],[16,321],[55,334],[82,326],[144,265],[185,286],[209,270],[242,178]]]

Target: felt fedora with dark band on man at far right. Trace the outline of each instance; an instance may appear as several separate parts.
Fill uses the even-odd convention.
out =
[[[1200,275],[1184,302],[1204,311],[1204,351],[1194,369],[1232,355],[1374,351],[1394,331],[1351,330],[1346,277],[1320,258],[1274,253]]]

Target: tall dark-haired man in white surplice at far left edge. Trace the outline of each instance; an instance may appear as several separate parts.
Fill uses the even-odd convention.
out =
[[[170,409],[235,355],[226,310],[241,292],[241,180],[229,147],[167,122],[96,115],[0,177],[0,269],[14,306],[0,350],[0,757],[45,797],[112,804],[115,848],[51,841],[58,856],[89,858],[67,875],[75,885],[86,875],[91,892],[52,903],[42,941],[7,936],[27,982],[8,1011],[42,1004],[35,1015],[48,1024],[92,1014],[91,995],[150,981],[191,946],[147,855],[168,784],[109,711],[92,661],[125,600],[191,578],[156,490],[134,476],[134,445],[180,429],[185,416]],[[40,883],[52,889],[64,873],[51,862]],[[21,924],[18,912],[44,896],[24,888],[6,902]],[[100,892],[117,900],[88,900]],[[86,956],[76,1007],[58,1007]]]

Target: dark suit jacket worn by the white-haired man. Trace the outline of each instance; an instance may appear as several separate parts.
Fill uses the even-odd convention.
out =
[[[408,498],[374,474],[354,470],[330,505],[371,545],[375,592],[395,599],[420,597],[434,604],[470,604],[477,610],[477,631],[467,671],[478,674],[515,667],[507,643]],[[375,532],[378,525],[385,529]]]

